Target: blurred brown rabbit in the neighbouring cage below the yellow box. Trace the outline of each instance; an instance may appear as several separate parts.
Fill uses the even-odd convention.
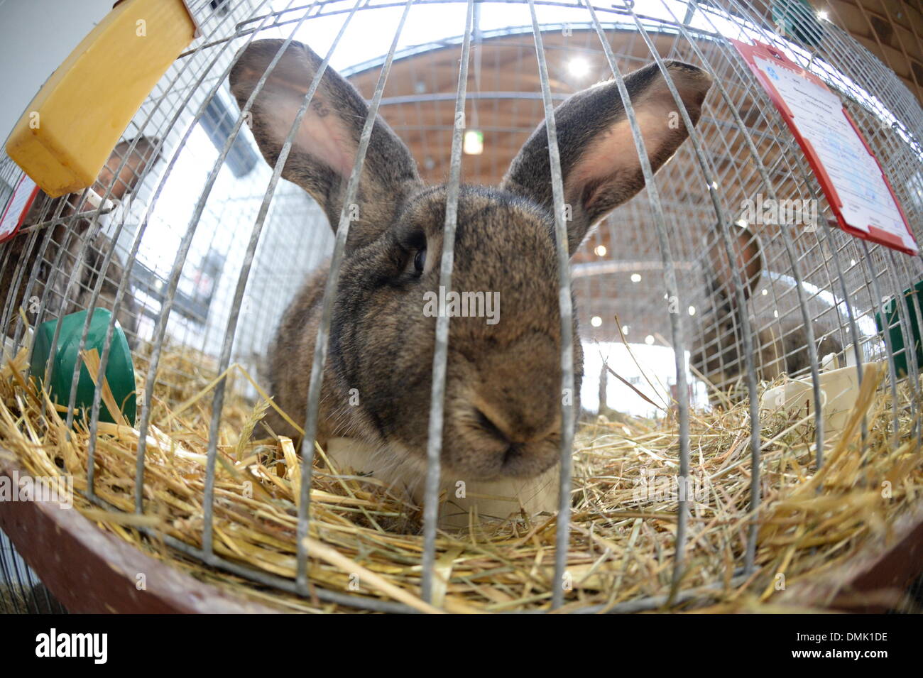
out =
[[[103,165],[96,183],[92,186],[97,195],[105,195],[109,186],[112,185],[110,196],[115,200],[124,199],[128,192],[134,191],[138,187],[140,177],[157,160],[155,153],[156,142],[147,137],[140,137],[122,171],[116,176],[115,170],[126,156],[126,153],[129,152],[128,149],[131,147],[131,143],[130,141],[119,143],[109,160]],[[72,215],[92,209],[87,201],[78,205],[79,197],[75,193],[53,198],[41,190],[39,191],[23,220],[23,228],[41,223],[42,220],[51,220],[58,208],[61,209],[59,219],[65,221],[65,223],[55,223],[53,226],[46,227],[52,229],[52,232],[48,236],[50,240],[45,247],[40,262],[37,259],[42,252],[42,243],[46,237],[44,233],[40,233],[39,237],[31,243],[31,246],[31,238],[25,233],[14,237],[6,244],[9,249],[7,250],[6,266],[3,268],[2,287],[0,287],[0,290],[3,290],[2,297],[0,297],[2,303],[7,303],[7,293],[17,283],[18,270],[23,270],[22,277],[18,280],[18,287],[13,292],[16,295],[15,301],[6,323],[6,333],[9,337],[14,337],[15,335],[15,328],[18,326],[16,320],[18,309],[23,303],[23,295],[29,284],[32,270],[37,263],[39,270],[36,274],[35,284],[30,291],[30,299],[37,298],[41,300],[47,293],[45,319],[75,313],[89,307],[92,292],[99,280],[98,276],[102,272],[103,259],[110,248],[114,246],[114,243],[102,232],[97,232],[93,237],[93,242],[90,243],[84,253],[79,270],[74,268],[77,265],[78,254],[84,239],[90,237],[91,232],[90,220],[88,219],[78,219],[72,225],[67,223]],[[64,203],[63,207],[61,206],[62,202]],[[64,252],[62,252],[62,248],[64,248]],[[58,260],[59,256],[61,257],[61,270],[52,276],[54,262]],[[96,305],[112,309],[118,285],[125,277],[125,269],[116,255],[110,258],[109,266],[104,271],[104,275]],[[78,282],[72,288],[71,298],[67,303],[63,303],[67,284],[75,276],[78,278]],[[51,280],[50,290],[46,289],[49,280]],[[32,321],[35,316],[32,309],[30,309],[30,305],[27,304],[24,310],[27,318]],[[0,310],[0,313],[2,313],[2,310]],[[134,345],[137,339],[138,303],[130,291],[126,291],[123,296],[117,319],[125,330],[129,343]]]

